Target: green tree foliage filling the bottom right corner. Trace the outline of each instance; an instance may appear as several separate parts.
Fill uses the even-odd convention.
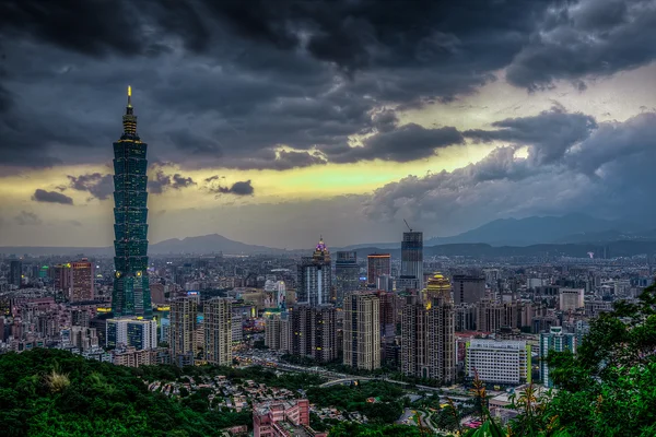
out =
[[[595,319],[576,355],[552,353],[548,362],[559,387],[549,400],[531,387],[515,401],[523,413],[505,429],[482,402],[483,426],[465,435],[656,436],[656,286],[637,304],[620,303]],[[477,397],[484,400],[484,390]]]

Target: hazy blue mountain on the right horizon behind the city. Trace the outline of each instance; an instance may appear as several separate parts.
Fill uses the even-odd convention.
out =
[[[621,229],[621,231],[618,231]],[[621,221],[608,221],[590,217],[586,214],[558,216],[531,216],[527,218],[502,218],[467,231],[453,237],[430,238],[424,246],[483,243],[491,246],[529,246],[549,243],[588,243],[586,236],[614,233],[618,239],[624,239],[626,233],[635,233],[640,226]],[[593,240],[597,240],[594,237]],[[633,239],[633,238],[626,238]]]

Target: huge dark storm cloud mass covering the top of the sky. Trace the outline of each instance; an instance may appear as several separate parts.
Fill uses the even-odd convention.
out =
[[[586,75],[644,64],[656,50],[645,1],[79,3],[0,4],[0,36],[11,43],[0,164],[108,162],[126,82],[151,158],[289,169],[331,160],[317,151],[368,160],[366,146],[345,149],[352,135],[408,129],[380,108],[448,104],[508,66],[517,86],[567,79],[583,90]],[[380,147],[380,156],[432,153],[401,147],[411,152]]]

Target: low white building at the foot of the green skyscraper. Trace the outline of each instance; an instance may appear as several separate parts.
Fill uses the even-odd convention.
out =
[[[148,319],[108,319],[107,347],[132,346],[137,350],[157,347],[157,322]]]

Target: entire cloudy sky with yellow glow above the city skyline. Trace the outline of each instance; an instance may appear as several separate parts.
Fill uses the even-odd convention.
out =
[[[655,59],[655,0],[4,0],[0,245],[112,244],[128,84],[152,243],[648,222]]]

